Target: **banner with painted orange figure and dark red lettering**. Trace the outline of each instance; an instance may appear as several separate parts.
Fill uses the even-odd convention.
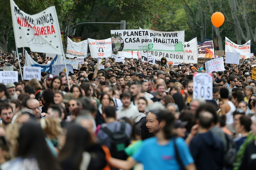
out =
[[[204,43],[197,46],[198,57],[215,58],[213,41],[205,41]]]

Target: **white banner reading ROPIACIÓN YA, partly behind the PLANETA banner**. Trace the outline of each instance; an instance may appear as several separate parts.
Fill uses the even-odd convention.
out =
[[[165,57],[167,61],[180,63],[197,63],[197,39],[194,38],[189,42],[185,42],[184,52],[168,52],[168,51],[141,51],[143,56],[152,56],[156,60]],[[144,59],[145,60],[145,59]]]

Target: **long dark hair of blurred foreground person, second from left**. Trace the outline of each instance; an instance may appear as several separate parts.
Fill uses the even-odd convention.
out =
[[[89,132],[82,126],[71,124],[67,128],[66,143],[59,154],[62,169],[79,170],[83,152],[92,144]]]

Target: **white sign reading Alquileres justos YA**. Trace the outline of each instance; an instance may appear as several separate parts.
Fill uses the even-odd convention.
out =
[[[23,79],[24,80],[31,80],[37,79],[41,81],[41,67],[23,67]]]

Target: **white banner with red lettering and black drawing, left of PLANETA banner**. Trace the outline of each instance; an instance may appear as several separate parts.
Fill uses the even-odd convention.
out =
[[[88,38],[92,58],[108,58],[112,56],[111,38],[96,40]]]

